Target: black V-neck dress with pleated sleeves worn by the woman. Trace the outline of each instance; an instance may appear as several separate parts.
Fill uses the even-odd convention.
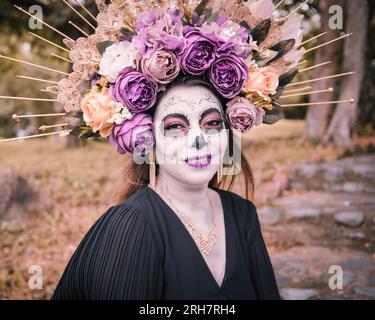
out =
[[[224,210],[221,286],[178,216],[144,186],[91,227],[52,299],[280,299],[255,206],[212,189]]]

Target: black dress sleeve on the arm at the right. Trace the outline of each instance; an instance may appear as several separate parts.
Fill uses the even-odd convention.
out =
[[[278,300],[280,295],[260,228],[258,213],[252,202],[248,201],[248,205],[250,219],[246,228],[246,243],[249,252],[250,276],[258,299]]]

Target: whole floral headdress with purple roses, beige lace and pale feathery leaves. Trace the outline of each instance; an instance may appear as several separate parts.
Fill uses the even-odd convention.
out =
[[[148,110],[179,75],[208,79],[241,133],[282,118],[278,99],[305,53],[298,9],[275,19],[272,0],[95,1],[95,33],[65,37],[73,71],[45,89],[64,105],[63,133],[108,137],[121,154],[147,153]]]

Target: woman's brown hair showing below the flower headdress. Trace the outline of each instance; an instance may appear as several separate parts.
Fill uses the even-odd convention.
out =
[[[177,85],[203,86],[205,88],[208,88],[219,99],[219,101],[221,102],[223,106],[223,109],[224,109],[224,106],[226,105],[227,101],[220,94],[217,93],[217,91],[210,84],[209,81],[202,79],[201,77],[197,78],[197,77],[192,77],[192,76],[179,76],[167,86],[167,90]],[[155,106],[158,105],[159,101],[161,100],[165,92],[158,95]],[[154,116],[155,109],[156,107],[151,108],[148,113],[151,116]],[[243,175],[244,183],[245,183],[245,197],[246,199],[250,200],[250,198],[253,197],[253,194],[254,194],[254,177],[253,177],[251,167],[248,161],[246,160],[246,158],[244,157],[242,151],[239,152],[239,146],[236,143],[236,141],[233,140],[233,131],[231,127],[229,126],[226,119],[225,119],[225,126],[229,130],[229,144],[228,144],[229,148],[227,149],[225,153],[225,157],[227,156],[231,157],[233,155],[240,154],[240,159],[237,159],[237,161],[241,163],[240,169],[241,169],[241,173]],[[113,198],[116,203],[123,202],[124,200],[129,198],[131,195],[136,193],[139,189],[141,189],[143,186],[147,185],[150,182],[149,164],[148,163],[137,164],[133,160],[133,157],[131,155],[127,156],[126,158],[127,158],[126,166],[124,168],[122,176],[120,177],[120,180],[117,183],[117,187],[115,188],[115,191],[113,194]],[[236,160],[234,160],[234,163],[235,162]],[[224,167],[226,167],[225,163],[227,163],[227,161],[224,162]],[[158,170],[159,170],[159,165],[156,163],[155,167],[156,167],[156,175],[157,175]],[[214,177],[211,179],[211,181],[208,183],[208,186],[231,191],[237,177],[238,175],[230,175],[230,176],[224,175],[220,183],[218,184],[217,174],[215,174]]]

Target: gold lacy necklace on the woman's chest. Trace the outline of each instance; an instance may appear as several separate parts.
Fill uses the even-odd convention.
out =
[[[212,202],[210,200],[210,197],[208,196],[208,193],[207,193],[207,199],[211,207],[212,227],[209,232],[206,232],[204,234],[196,226],[194,226],[191,222],[188,221],[188,219],[174,206],[173,201],[164,192],[162,192],[161,190],[159,192],[164,194],[164,196],[167,198],[168,202],[171,204],[174,211],[180,217],[181,221],[183,222],[183,224],[185,225],[185,227],[191,234],[199,250],[202,251],[204,254],[209,255],[210,252],[212,251],[212,247],[214,246],[218,236],[216,232],[216,216],[215,216]]]

